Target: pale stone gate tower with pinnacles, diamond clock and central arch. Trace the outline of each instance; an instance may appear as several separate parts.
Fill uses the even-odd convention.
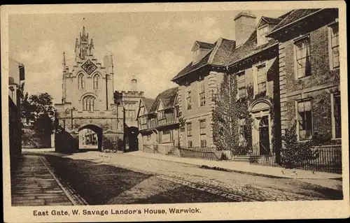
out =
[[[71,71],[63,59],[62,103],[55,104],[61,129],[55,137],[56,150],[76,150],[81,129],[97,133],[99,150],[117,149],[116,142],[123,141],[123,106],[113,99],[113,59],[104,57],[102,65],[93,50],[94,43],[83,27],[79,42],[76,39],[76,64]]]

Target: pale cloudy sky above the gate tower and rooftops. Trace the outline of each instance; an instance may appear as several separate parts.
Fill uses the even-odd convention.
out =
[[[277,17],[287,10],[251,11]],[[145,96],[175,87],[171,79],[192,59],[195,41],[214,43],[235,39],[234,17],[239,11],[138,12],[9,15],[9,55],[25,64],[29,94],[48,92],[54,103],[62,98],[62,52],[69,69],[74,64],[76,38],[83,27],[94,39],[94,57],[103,63],[113,55],[114,90],[130,89],[132,75]]]

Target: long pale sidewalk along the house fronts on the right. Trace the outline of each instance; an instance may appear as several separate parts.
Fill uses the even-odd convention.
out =
[[[128,152],[132,156],[145,157],[149,159],[160,159],[164,161],[174,161],[182,164],[192,164],[195,166],[209,166],[211,168],[224,168],[228,171],[239,173],[250,173],[267,177],[294,178],[294,179],[335,179],[342,178],[342,174],[325,173],[319,171],[304,171],[299,169],[286,169],[274,166],[259,166],[249,164],[245,161],[211,161],[206,159],[190,159],[183,157],[167,156],[165,154],[153,154],[142,151]]]

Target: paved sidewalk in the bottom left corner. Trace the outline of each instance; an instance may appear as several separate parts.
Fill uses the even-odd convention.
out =
[[[59,181],[52,175],[45,158],[24,155],[16,171],[11,174],[13,206],[72,206]]]

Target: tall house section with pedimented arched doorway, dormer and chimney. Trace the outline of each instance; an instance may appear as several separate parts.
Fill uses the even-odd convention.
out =
[[[244,42],[232,50],[228,73],[237,80],[237,106],[246,108],[235,110],[239,155],[269,154],[280,148],[279,44],[265,35],[287,15],[262,16],[257,25],[251,13],[235,17],[236,38]]]

